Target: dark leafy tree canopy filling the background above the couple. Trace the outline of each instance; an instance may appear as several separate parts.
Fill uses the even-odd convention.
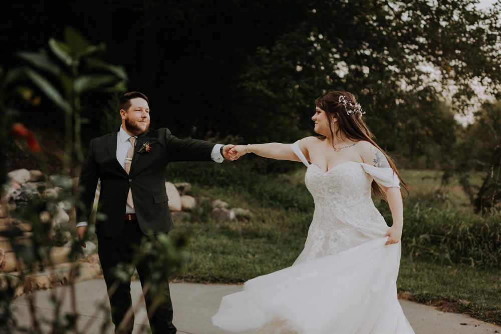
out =
[[[500,98],[501,4],[481,12],[475,3],[7,1],[0,66],[72,26],[105,43],[129,91],[148,95],[153,127],[180,137],[294,141],[313,134],[315,98],[344,90],[358,96],[378,143],[414,160],[431,146],[449,149],[454,113],[482,99],[472,86]],[[108,102],[87,99],[90,138],[96,123],[109,122]]]

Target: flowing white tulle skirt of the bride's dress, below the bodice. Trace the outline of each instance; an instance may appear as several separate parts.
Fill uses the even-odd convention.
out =
[[[223,297],[212,322],[232,332],[414,333],[397,299],[401,246],[386,240],[251,279]]]

